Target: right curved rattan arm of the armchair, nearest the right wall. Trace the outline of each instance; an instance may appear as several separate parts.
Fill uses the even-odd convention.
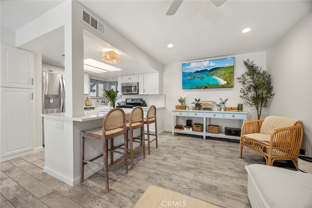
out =
[[[274,155],[281,157],[297,157],[303,137],[303,126],[296,123],[295,126],[278,128],[271,133],[270,148],[275,149]]]

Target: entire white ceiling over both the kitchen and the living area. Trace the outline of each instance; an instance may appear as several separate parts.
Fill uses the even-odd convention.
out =
[[[1,1],[1,26],[17,30],[64,1]],[[162,64],[266,51],[311,10],[311,1],[231,1],[215,7],[210,1],[184,0],[173,16],[166,16],[172,1],[79,1]],[[252,27],[249,33],[241,33]],[[48,40],[48,41],[47,41]],[[167,48],[173,43],[173,48]],[[85,56],[99,58],[109,46],[84,33]],[[64,58],[64,28],[30,41],[24,49],[41,52],[43,61],[59,65]],[[146,65],[122,54],[122,71],[106,78],[135,74]],[[138,72],[137,72],[138,71]],[[115,74],[114,74],[115,73]],[[141,72],[142,73],[142,72]],[[95,75],[100,75],[96,74]]]

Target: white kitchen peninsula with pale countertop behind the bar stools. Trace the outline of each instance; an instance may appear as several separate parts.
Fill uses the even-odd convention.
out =
[[[164,107],[157,108],[157,116],[163,117]],[[123,109],[126,119],[133,109]],[[145,107],[146,114],[148,107]],[[71,186],[75,186],[80,182],[80,166],[81,166],[81,131],[101,128],[103,119],[109,110],[100,112],[85,111],[84,116],[66,117],[65,113],[56,114],[40,114],[44,117],[44,136],[45,136],[45,166],[44,172],[66,182]],[[160,113],[160,114],[159,114]],[[159,119],[158,133],[163,130],[162,119]],[[151,125],[153,126],[153,125]],[[73,136],[71,136],[73,135]],[[134,136],[140,135],[140,129],[134,130]],[[114,139],[115,144],[122,144],[123,137],[119,136]],[[134,148],[139,143],[134,143]],[[110,143],[109,143],[110,148]],[[85,139],[85,158],[91,159],[103,153],[102,141],[94,139]],[[121,154],[114,154],[114,161],[121,157]],[[108,155],[110,161],[110,154]],[[103,164],[103,157],[98,158],[95,162]],[[85,165],[85,178],[99,171],[101,167]]]

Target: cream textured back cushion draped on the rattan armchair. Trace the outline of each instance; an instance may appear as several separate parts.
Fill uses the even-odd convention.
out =
[[[301,123],[301,121],[299,119],[287,117],[268,116],[264,119],[259,133],[271,135],[277,128],[295,126],[296,123]]]

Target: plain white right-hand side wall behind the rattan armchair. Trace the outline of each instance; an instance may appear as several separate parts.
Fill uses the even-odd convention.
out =
[[[266,65],[276,93],[269,112],[302,121],[301,148],[308,157],[312,157],[311,24],[310,12],[267,51]]]

